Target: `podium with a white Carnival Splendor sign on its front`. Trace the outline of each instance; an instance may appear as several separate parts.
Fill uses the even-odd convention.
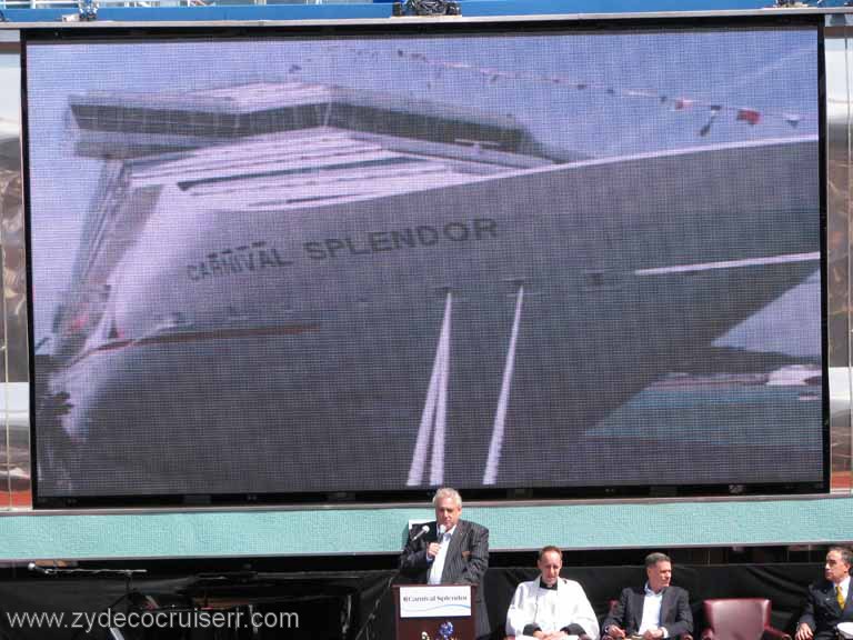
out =
[[[394,584],[397,640],[475,640],[471,584]]]

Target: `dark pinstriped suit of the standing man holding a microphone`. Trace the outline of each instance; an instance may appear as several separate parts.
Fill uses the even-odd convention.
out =
[[[432,562],[428,561],[426,547],[438,540],[435,522],[429,523],[430,530],[418,540],[412,538],[421,531],[414,527],[409,531],[403,553],[400,556],[400,573],[412,581],[425,584]],[[441,572],[442,584],[475,584],[476,586],[476,634],[489,633],[489,614],[483,598],[483,576],[489,568],[489,529],[460,520],[450,537],[450,547],[444,558],[444,569]]]

